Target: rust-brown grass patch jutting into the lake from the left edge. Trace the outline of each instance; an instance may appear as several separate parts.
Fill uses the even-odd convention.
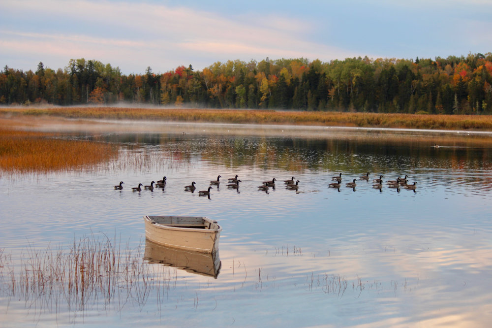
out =
[[[0,128],[0,171],[4,172],[72,170],[109,161],[117,154],[115,146],[105,143]]]

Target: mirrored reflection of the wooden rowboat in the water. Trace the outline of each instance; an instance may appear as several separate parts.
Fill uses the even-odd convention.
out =
[[[217,278],[220,271],[218,250],[212,253],[200,253],[158,245],[145,239],[144,260],[150,264],[164,264]]]

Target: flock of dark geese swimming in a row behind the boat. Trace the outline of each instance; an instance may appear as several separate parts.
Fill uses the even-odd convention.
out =
[[[369,181],[369,174],[370,173],[367,172],[365,175],[359,176],[359,180]],[[218,175],[216,180],[210,181],[209,188],[207,190],[199,191],[198,195],[199,196],[210,196],[210,190],[212,189],[212,187],[217,186],[217,188],[218,188],[218,186],[220,185],[220,178],[221,177],[222,177],[221,175]],[[238,190],[239,189],[239,183],[241,182],[241,180],[239,180],[238,177],[239,176],[236,175],[234,178],[229,178],[227,188]],[[166,187],[166,181],[167,181],[167,178],[164,176],[162,178],[162,180],[157,180],[157,182],[152,181],[150,185],[144,186],[142,183],[139,183],[137,187],[132,187],[131,189],[134,192],[140,192],[140,191],[142,191],[142,189],[147,189],[150,191],[153,191],[154,188],[164,189]],[[268,193],[268,190],[270,188],[275,190],[276,181],[277,181],[276,178],[273,178],[271,181],[263,181],[263,184],[261,186],[258,186],[258,190],[259,191],[265,191],[267,193]],[[341,173],[336,175],[336,176],[333,176],[332,181],[334,181],[334,182],[328,184],[328,187],[338,189],[338,191],[339,191],[340,187],[342,186]],[[357,181],[357,178],[353,179],[351,182],[345,183],[345,186],[349,187],[349,188],[354,188],[354,190],[355,190],[355,187],[357,186],[356,181]],[[284,180],[283,184],[285,185],[285,189],[294,190],[297,192],[299,189],[299,182],[300,181],[296,180],[295,177],[292,177],[291,179]],[[372,179],[372,182],[374,182],[374,184],[372,185],[372,188],[374,188],[374,189],[383,188],[383,183],[386,183],[388,188],[396,188],[396,189],[403,188],[403,189],[409,189],[409,190],[417,189],[417,182],[414,182],[413,184],[408,183],[408,175],[405,175],[404,178],[401,178],[399,176],[396,180],[388,180],[388,181],[383,181],[383,176],[380,175],[379,178]],[[120,181],[119,185],[114,186],[115,190],[123,190],[123,184],[124,184],[124,182]],[[142,186],[143,186],[143,188],[142,188]],[[188,191],[188,192],[193,193],[195,190],[196,190],[195,181],[192,181],[191,185],[184,186],[184,191]]]

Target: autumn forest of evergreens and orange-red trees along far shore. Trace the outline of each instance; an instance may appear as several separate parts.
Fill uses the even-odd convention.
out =
[[[186,108],[492,114],[492,53],[446,59],[305,58],[217,62],[165,73],[122,74],[96,60],[0,72],[0,105],[135,105]]]

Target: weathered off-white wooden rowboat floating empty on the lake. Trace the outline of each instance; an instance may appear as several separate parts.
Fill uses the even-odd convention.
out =
[[[145,237],[150,241],[200,253],[218,250],[222,228],[204,216],[145,215]]]

